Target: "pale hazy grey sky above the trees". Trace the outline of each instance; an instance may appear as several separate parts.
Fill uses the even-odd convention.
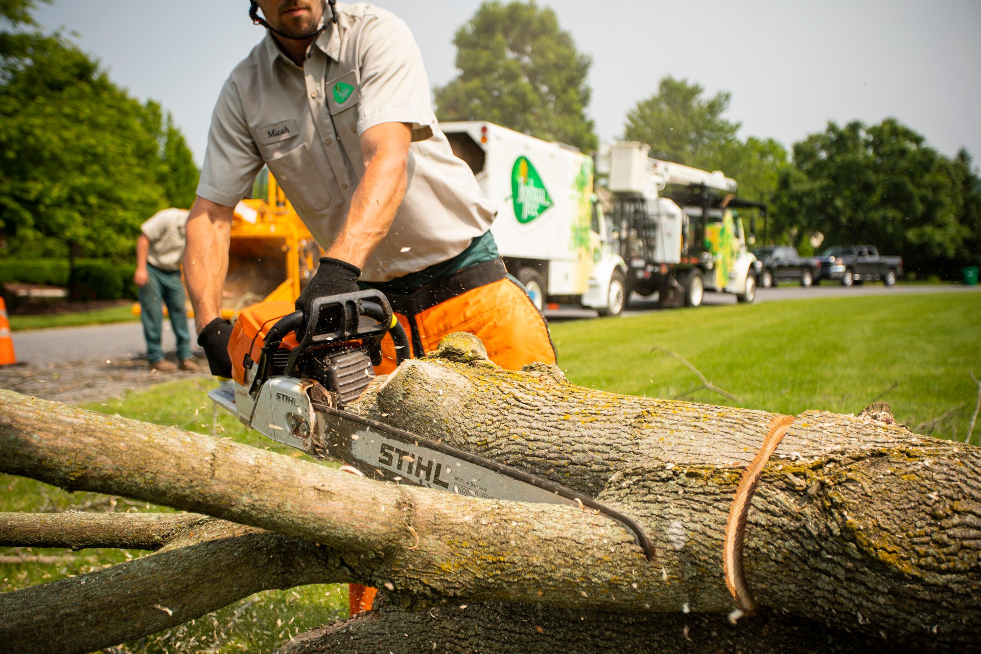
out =
[[[434,85],[456,71],[456,28],[480,0],[378,0],[412,28]],[[593,57],[589,115],[603,141],[664,75],[729,91],[741,136],[788,148],[829,121],[895,117],[953,156],[981,158],[979,0],[539,0]],[[140,99],[173,112],[198,162],[222,83],[265,31],[245,0],[56,0],[39,22]]]

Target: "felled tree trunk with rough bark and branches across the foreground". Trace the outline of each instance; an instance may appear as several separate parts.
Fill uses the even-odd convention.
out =
[[[354,406],[595,496],[645,528],[652,562],[591,511],[353,478],[6,391],[0,407],[0,471],[210,517],[0,517],[0,545],[157,550],[0,595],[4,651],[88,651],[261,589],[352,580],[384,589],[377,610],[284,651],[981,648],[981,454],[883,407],[787,418],[760,458],[770,414],[592,390],[543,365],[502,371],[462,334]],[[735,577],[768,611],[734,627],[723,551],[754,459]]]

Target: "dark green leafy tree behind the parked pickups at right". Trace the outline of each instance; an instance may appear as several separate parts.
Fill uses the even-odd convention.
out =
[[[895,119],[829,123],[794,145],[794,164],[780,178],[780,214],[823,232],[828,245],[871,243],[932,273],[970,236],[962,171]]]

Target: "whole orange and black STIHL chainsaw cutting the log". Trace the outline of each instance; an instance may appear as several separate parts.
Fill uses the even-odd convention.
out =
[[[232,329],[232,379],[208,396],[243,425],[317,459],[343,462],[368,478],[593,509],[627,528],[653,559],[650,541],[634,520],[588,495],[345,411],[375,378],[386,335],[397,364],[410,357],[405,329],[382,292],[318,298],[309,315],[291,309],[287,302],[249,307]]]

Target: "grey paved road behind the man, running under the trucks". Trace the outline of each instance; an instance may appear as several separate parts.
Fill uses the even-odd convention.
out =
[[[812,297],[857,296],[857,295],[898,295],[905,293],[970,293],[981,291],[981,286],[959,284],[897,284],[887,288],[879,283],[846,288],[841,285],[800,286],[783,285],[776,288],[760,289],[757,302],[775,302]],[[706,305],[736,304],[736,296],[725,293],[705,293]],[[638,315],[656,308],[655,302],[638,297],[625,315]],[[550,320],[575,320],[593,318],[594,311],[582,309],[562,309],[545,312]],[[193,322],[190,324],[194,334]],[[164,350],[172,351],[176,344],[170,324],[165,324]],[[49,363],[63,364],[82,360],[128,361],[143,356],[146,345],[139,323],[122,323],[92,327],[63,327],[59,329],[40,329],[36,331],[15,331],[14,348],[19,361],[33,365]],[[197,352],[200,355],[200,352]]]

